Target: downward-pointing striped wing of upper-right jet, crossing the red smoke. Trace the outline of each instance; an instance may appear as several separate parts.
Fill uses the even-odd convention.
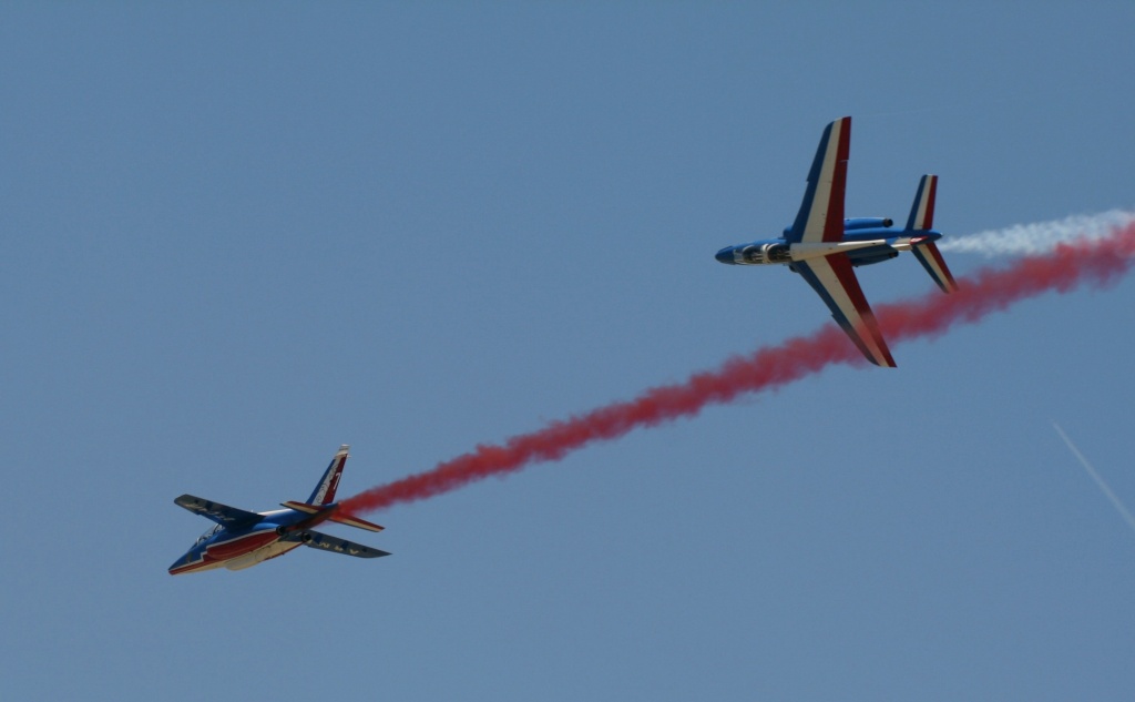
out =
[[[867,304],[867,298],[859,287],[859,279],[846,253],[796,261],[792,270],[804,276],[808,285],[819,294],[827,309],[832,310],[832,317],[868,361],[876,366],[894,367],[894,359],[878,331],[875,314]]]

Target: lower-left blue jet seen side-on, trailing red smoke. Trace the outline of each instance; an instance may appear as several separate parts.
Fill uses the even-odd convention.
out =
[[[338,511],[335,490],[339,485],[343,466],[347,462],[347,449],[350,446],[339,446],[335,458],[331,459],[331,465],[327,467],[306,502],[284,502],[283,507],[286,509],[246,512],[193,495],[182,495],[174,500],[175,504],[184,507],[194,515],[212,519],[217,526],[202,534],[185,555],[174,561],[169,567],[169,574],[182,575],[220,567],[241,570],[270,558],[284,555],[299,546],[311,546],[358,558],[389,555],[386,551],[312,529],[313,526],[329,520],[371,532],[382,530],[377,524]]]

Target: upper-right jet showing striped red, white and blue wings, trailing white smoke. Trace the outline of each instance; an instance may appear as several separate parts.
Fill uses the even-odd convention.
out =
[[[785,228],[780,239],[725,246],[716,258],[723,264],[742,266],[788,265],[789,270],[800,274],[819,293],[832,317],[867,360],[893,368],[894,359],[859,289],[855,267],[892,259],[900,251],[913,251],[944,292],[958,289],[934,244],[942,236],[933,228],[938,176],[923,176],[910,217],[901,229],[893,228],[894,223],[889,218],[844,219],[843,191],[850,145],[850,117],[827,125],[792,226]]]

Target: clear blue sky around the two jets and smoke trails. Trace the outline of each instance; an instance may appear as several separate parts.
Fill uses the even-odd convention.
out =
[[[11,700],[1128,700],[1135,279],[171,578],[346,493],[829,324],[725,244],[941,175],[964,235],[1129,208],[1130,2],[5,3]],[[964,275],[985,261],[955,256]],[[876,303],[932,283],[864,269]]]

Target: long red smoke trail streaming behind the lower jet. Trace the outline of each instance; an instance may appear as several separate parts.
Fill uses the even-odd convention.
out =
[[[934,291],[922,300],[881,306],[876,317],[883,336],[900,342],[936,336],[960,323],[975,323],[990,312],[1048,291],[1066,293],[1083,283],[1103,286],[1118,281],[1135,262],[1135,224],[1111,236],[1061,244],[1049,254],[1023,258],[1004,269],[982,269],[959,278],[959,291]],[[439,463],[432,470],[373,487],[343,501],[348,512],[382,509],[423,500],[493,475],[519,470],[537,461],[554,461],[583,446],[617,438],[631,429],[692,417],[707,404],[731,402],[739,395],[774,390],[834,363],[863,363],[859,351],[834,325],[730,359],[716,370],[690,376],[684,383],[647,390],[585,415],[553,421],[520,434],[503,445],[476,450]]]

